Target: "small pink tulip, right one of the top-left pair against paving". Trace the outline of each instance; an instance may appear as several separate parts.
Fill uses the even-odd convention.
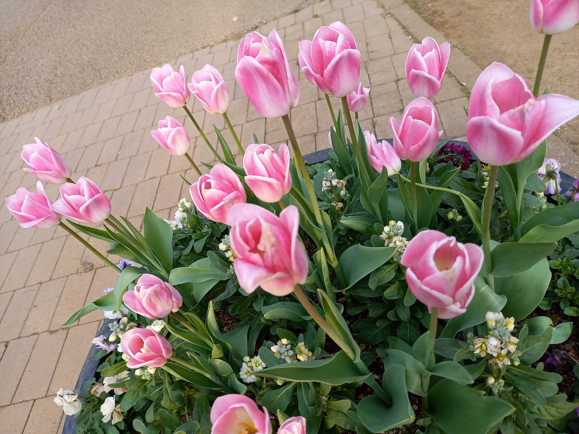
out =
[[[193,72],[187,87],[212,115],[222,115],[229,108],[227,84],[214,66],[207,64]]]

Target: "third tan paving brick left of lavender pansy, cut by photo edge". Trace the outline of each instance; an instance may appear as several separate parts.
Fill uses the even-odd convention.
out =
[[[0,406],[5,406],[12,402],[12,396],[14,396],[14,392],[16,392],[16,388],[18,387],[20,378],[32,352],[32,348],[34,348],[35,341],[36,335],[13,339],[4,351],[2,361],[0,361],[0,378],[2,378],[2,388],[0,388]],[[0,407],[0,422],[3,422],[2,412],[4,411],[4,408],[6,407]],[[28,414],[28,411],[30,411],[30,407],[24,414]],[[19,419],[23,419],[21,414],[20,417],[14,417],[9,425],[2,426],[10,426],[10,428],[13,428],[14,421]]]

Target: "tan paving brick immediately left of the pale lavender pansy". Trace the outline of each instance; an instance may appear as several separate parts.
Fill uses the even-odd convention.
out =
[[[98,330],[98,322],[89,322],[78,326],[71,327],[68,330],[67,339],[64,341],[64,347],[61,358],[54,371],[52,382],[50,382],[50,391],[58,391],[58,388],[70,384],[71,387],[76,380],[90,350],[90,341]]]

